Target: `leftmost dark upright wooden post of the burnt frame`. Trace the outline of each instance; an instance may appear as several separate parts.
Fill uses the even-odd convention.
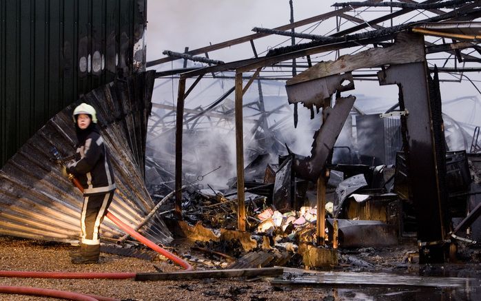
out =
[[[184,116],[185,81],[178,81],[176,132],[175,132],[175,215],[182,220],[182,133]]]

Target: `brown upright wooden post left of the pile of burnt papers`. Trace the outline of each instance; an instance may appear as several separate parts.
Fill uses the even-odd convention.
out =
[[[244,134],[243,134],[243,90],[242,73],[236,73],[236,158],[237,158],[237,227],[245,231],[244,203]]]

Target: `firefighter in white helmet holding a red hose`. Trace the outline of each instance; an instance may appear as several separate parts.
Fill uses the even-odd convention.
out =
[[[100,254],[99,230],[114,197],[115,183],[109,153],[92,105],[81,103],[73,113],[77,144],[75,159],[67,165],[83,186],[80,247],[73,253],[72,263],[97,263]]]

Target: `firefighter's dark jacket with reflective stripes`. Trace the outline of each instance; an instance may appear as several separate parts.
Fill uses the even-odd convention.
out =
[[[77,145],[75,160],[68,165],[67,171],[79,179],[85,196],[105,194],[115,189],[109,154],[100,134],[92,131],[83,145]]]

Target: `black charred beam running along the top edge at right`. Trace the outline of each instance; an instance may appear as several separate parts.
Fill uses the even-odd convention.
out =
[[[468,2],[475,2],[475,1],[466,1],[466,0],[451,0],[451,1],[443,1],[441,3],[399,3],[399,2],[380,2],[380,3],[372,3],[372,2],[342,2],[342,3],[334,3],[332,6],[339,8],[345,7],[369,7],[369,8],[376,8],[376,7],[391,7],[391,8],[412,8],[413,10],[433,10],[437,8],[456,8],[462,6]]]

